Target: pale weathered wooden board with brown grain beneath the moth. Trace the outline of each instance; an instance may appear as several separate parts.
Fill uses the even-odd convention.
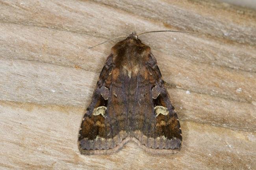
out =
[[[0,0],[0,169],[256,169],[256,12],[199,0]],[[77,139],[110,48],[151,46],[178,111],[182,150],[128,143],[81,155]]]

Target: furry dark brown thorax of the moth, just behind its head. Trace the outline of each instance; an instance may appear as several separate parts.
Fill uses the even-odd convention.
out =
[[[128,37],[112,47],[113,62],[128,73],[137,72],[148,61],[150,47],[135,37]],[[130,76],[129,76],[130,77]]]

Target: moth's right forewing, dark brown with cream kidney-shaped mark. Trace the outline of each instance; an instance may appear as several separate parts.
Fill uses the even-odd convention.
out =
[[[143,83],[143,85],[145,89],[152,89],[148,94],[150,98],[147,98],[151,100],[150,102],[147,101],[147,103],[151,103],[147,106],[151,112],[147,111],[147,115],[144,115],[145,119],[150,121],[145,122],[148,125],[146,130],[137,128],[133,136],[135,141],[147,151],[174,153],[181,148],[182,132],[178,117],[161,79],[160,70],[152,54],[150,54],[146,71],[148,73],[144,73],[140,77],[141,79],[148,78],[147,83]],[[149,77],[145,75],[149,75]],[[141,95],[143,94],[138,94],[138,96]],[[147,108],[140,109],[147,110]]]

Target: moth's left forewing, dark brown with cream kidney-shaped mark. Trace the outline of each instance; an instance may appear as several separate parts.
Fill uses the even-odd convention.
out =
[[[102,69],[90,106],[87,108],[79,131],[78,144],[82,154],[109,154],[119,150],[129,138],[126,117],[123,115],[124,96],[113,95],[122,91],[119,71],[113,68],[112,56]],[[116,79],[113,81],[113,79]],[[118,107],[109,107],[118,106]]]

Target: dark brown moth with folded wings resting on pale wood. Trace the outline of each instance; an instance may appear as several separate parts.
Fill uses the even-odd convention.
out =
[[[128,141],[155,154],[181,148],[180,122],[150,47],[133,32],[115,44],[85,111],[82,154],[111,154]]]

